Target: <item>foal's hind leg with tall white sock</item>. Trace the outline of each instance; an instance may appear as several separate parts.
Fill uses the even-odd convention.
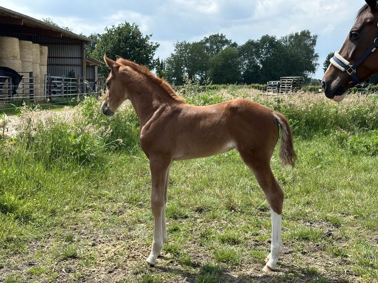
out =
[[[271,246],[270,253],[266,257],[266,264],[263,271],[272,271],[276,269],[276,263],[278,257],[282,251],[282,239],[281,239],[281,219],[282,219],[282,206],[284,200],[284,194],[277,183],[277,180],[273,176],[270,169],[270,164],[267,161],[251,160],[243,157],[243,161],[251,169],[255,175],[260,187],[263,189],[266,200],[270,206],[271,212]]]

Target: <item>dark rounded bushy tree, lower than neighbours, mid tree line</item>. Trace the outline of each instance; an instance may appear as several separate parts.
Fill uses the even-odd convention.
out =
[[[239,54],[234,47],[226,47],[210,59],[208,71],[215,84],[237,83],[240,80]]]

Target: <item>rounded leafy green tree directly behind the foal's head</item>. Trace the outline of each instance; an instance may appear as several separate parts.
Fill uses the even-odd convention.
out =
[[[143,36],[136,24],[130,25],[127,22],[117,27],[106,27],[105,31],[92,53],[94,58],[103,61],[104,55],[112,59],[118,55],[150,69],[156,67],[153,56],[159,44],[151,42],[152,35]],[[100,65],[98,72],[107,76],[109,70],[105,65]]]

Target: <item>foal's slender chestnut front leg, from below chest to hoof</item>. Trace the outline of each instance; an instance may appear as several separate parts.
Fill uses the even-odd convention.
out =
[[[165,225],[166,187],[168,183],[169,167],[171,162],[150,158],[152,180],[151,211],[153,215],[152,248],[147,263],[155,265],[156,258],[167,240]],[[165,164],[165,165],[164,165]]]

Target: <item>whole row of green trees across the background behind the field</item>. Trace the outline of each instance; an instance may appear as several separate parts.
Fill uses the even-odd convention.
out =
[[[136,24],[127,22],[105,28],[104,34],[91,34],[93,42],[86,46],[88,57],[103,61],[119,55],[148,66],[173,85],[182,85],[189,78],[199,84],[265,84],[281,76],[302,76],[309,80],[318,67],[315,52],[317,35],[303,30],[277,38],[263,35],[238,45],[226,35],[214,34],[200,41],[181,41],[166,59],[154,59],[159,44],[152,35],[143,35]],[[108,68],[99,66],[99,74],[107,76]]]

